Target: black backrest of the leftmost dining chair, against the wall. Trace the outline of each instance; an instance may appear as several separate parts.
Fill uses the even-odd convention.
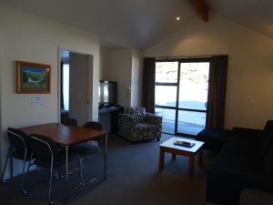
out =
[[[13,149],[17,151],[25,151],[25,149],[30,149],[29,137],[20,129],[8,128],[7,137]]]

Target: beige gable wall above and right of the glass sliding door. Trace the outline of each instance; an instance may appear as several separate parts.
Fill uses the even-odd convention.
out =
[[[263,128],[273,118],[273,40],[224,17],[199,17],[145,56],[229,55],[226,128]]]

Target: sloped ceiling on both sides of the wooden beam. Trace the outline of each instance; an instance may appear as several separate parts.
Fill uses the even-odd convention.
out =
[[[198,14],[191,0],[0,0],[101,38],[104,46],[145,49]],[[273,37],[273,1],[206,0],[212,11]],[[176,16],[181,20],[177,22]]]

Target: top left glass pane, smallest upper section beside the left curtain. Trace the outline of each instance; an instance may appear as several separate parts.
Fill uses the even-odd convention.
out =
[[[178,62],[157,62],[156,82],[177,83]]]

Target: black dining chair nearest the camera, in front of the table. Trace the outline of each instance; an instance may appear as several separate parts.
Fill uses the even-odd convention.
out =
[[[47,138],[42,135],[31,134],[30,142],[33,149],[32,156],[35,156],[33,164],[40,168],[50,170],[48,203],[51,204],[53,203],[53,200],[51,200],[51,189],[54,169],[61,168],[66,164],[66,153],[60,151],[56,143],[51,138]],[[69,153],[68,161],[71,161],[73,159],[76,159],[76,155],[74,155],[73,153]],[[27,168],[27,173],[29,171],[29,166]],[[81,166],[79,167],[81,169]]]

